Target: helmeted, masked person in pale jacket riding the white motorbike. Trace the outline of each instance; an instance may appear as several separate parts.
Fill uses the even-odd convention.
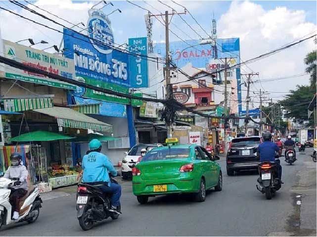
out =
[[[14,179],[19,178],[19,181],[15,181],[13,186],[10,186],[11,194],[9,197],[12,205],[13,216],[12,219],[19,218],[19,199],[28,193],[28,171],[22,164],[22,156],[19,153],[13,153],[10,156],[11,166],[8,167],[4,174],[4,178]]]

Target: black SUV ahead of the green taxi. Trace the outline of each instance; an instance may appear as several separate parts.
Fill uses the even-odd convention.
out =
[[[260,136],[232,139],[226,156],[227,175],[239,170],[258,169],[260,158],[257,158],[257,150],[261,142]]]

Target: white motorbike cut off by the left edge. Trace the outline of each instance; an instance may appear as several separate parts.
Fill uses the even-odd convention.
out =
[[[43,203],[40,197],[40,190],[38,187],[30,187],[28,193],[20,198],[19,218],[12,220],[13,212],[9,196],[11,193],[10,187],[14,186],[15,181],[19,181],[19,178],[7,179],[0,177],[0,228],[2,225],[22,221],[33,223],[38,219],[40,214],[41,203]]]

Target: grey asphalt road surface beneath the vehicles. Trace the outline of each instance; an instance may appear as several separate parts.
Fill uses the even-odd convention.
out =
[[[205,202],[195,203],[182,196],[162,196],[151,197],[147,204],[139,205],[132,194],[131,181],[125,181],[122,183],[123,214],[118,220],[105,220],[88,232],[82,231],[76,218],[75,194],[71,193],[45,200],[36,223],[2,227],[0,236],[289,235],[289,232],[296,233],[300,228],[296,201],[294,204],[296,193],[291,190],[299,182],[296,174],[305,171],[305,160],[311,160],[310,150],[306,155],[298,153],[298,160],[292,166],[281,158],[285,185],[272,200],[267,200],[257,191],[256,173],[241,172],[227,176],[225,160],[220,160],[224,178],[223,191],[210,191]],[[72,189],[74,187],[54,192],[67,193]],[[306,235],[311,235],[311,232]]]

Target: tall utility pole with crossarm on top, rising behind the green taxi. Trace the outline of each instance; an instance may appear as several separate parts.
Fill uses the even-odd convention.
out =
[[[165,62],[166,62],[166,67],[165,67],[165,79],[166,79],[166,99],[171,99],[172,96],[172,84],[171,84],[171,75],[170,75],[170,40],[169,40],[169,16],[175,15],[176,13],[169,13],[168,11],[165,11],[165,14],[157,14],[157,15],[148,15],[147,17],[163,17],[165,16]],[[186,14],[186,12],[178,12],[178,15],[180,14]],[[148,20],[149,21],[149,20]],[[170,120],[170,116],[167,116],[169,118],[166,122],[167,126],[167,137],[171,138],[173,137],[173,131],[172,131],[172,121]]]

